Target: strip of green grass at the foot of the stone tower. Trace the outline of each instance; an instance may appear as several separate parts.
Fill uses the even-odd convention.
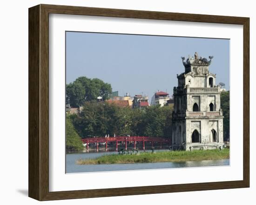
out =
[[[193,160],[222,160],[229,159],[229,149],[222,150],[195,150],[195,151],[172,151],[139,154],[111,154],[103,155],[95,159],[79,159],[78,165],[90,164],[130,164],[152,162],[181,162]]]

